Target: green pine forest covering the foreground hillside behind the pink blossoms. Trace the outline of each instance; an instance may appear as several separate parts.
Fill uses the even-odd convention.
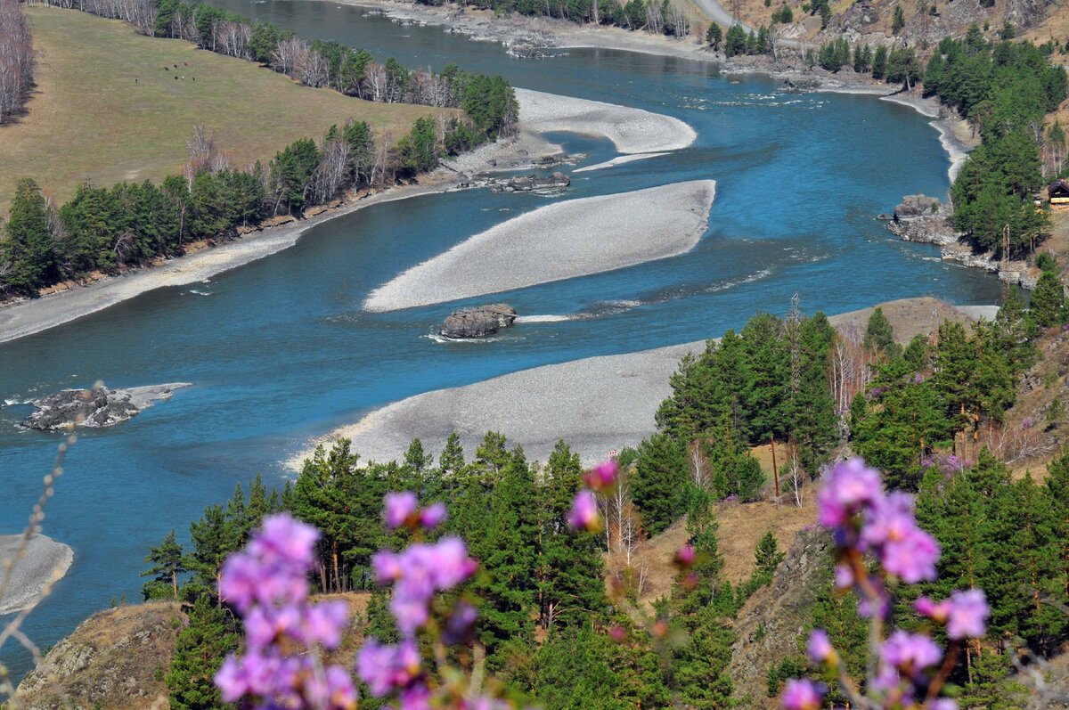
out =
[[[1052,307],[1064,320],[1064,303]],[[247,494],[238,487],[190,524],[188,547],[172,531],[150,552],[146,599],[199,600],[167,677],[172,707],[222,707],[208,679],[220,649],[236,648],[236,636],[223,644],[220,634],[238,629],[214,611],[226,602],[215,589],[223,560],[273,512],[289,511],[321,531],[312,578],[319,590],[371,595],[353,633],[396,642],[372,556],[410,542],[405,529],[379,524],[383,496],[398,490],[416,491],[423,505],[446,503],[449,518],[431,539],[462,536],[479,559],[460,598],[477,605],[487,670],[514,697],[576,709],[760,705],[738,696],[727,668],[740,640],[737,615],[772,581],[784,553],[769,531],[754,550],[749,580],[726,580],[714,504],[772,498],[801,507],[822,468],[845,451],[878,462],[889,488],[912,492],[918,521],[943,547],[939,582],[895,589],[894,626],[924,628],[912,607],[921,595],[985,589],[991,634],[966,648],[950,682],[961,707],[1021,707],[1016,661],[1060,652],[1069,633],[1058,606],[1069,601],[1069,454],[1036,481],[1012,477],[991,451],[1005,453],[996,438],[1019,426],[1006,422],[1006,412],[1038,357],[1045,328],[1037,318],[1047,319],[1047,308],[1010,298],[993,322],[947,322],[905,348],[881,309],[864,331],[836,330],[796,306],[786,318],[756,315],[681,361],[659,431],[618,454],[618,483],[599,494],[600,532],[569,529],[569,506],[590,478],[563,442],[544,464],[495,432],[470,458],[455,434],[437,457],[416,439],[403,460],[388,463],[362,461],[344,439],[320,447],[292,484],[268,492],[258,477]],[[779,446],[778,481],[766,480],[750,450],[770,439]],[[680,520],[696,553],[693,574],[650,600],[645,541]],[[629,561],[607,567],[606,559]],[[826,629],[854,680],[864,678],[867,622],[850,595],[835,591],[832,567],[826,556],[812,582],[816,603],[789,622],[804,630],[797,653],[759,669],[770,698],[787,678],[819,677],[804,658],[812,628]],[[218,633],[205,634],[204,624]]]

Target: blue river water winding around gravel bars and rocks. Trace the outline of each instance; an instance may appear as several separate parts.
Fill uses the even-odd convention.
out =
[[[151,543],[171,528],[185,538],[206,505],[258,472],[279,484],[288,475],[280,462],[310,436],[375,406],[528,367],[716,336],[759,309],[784,312],[795,292],[804,310],[827,313],[918,295],[998,298],[992,277],[898,242],[873,219],[902,195],[948,188],[936,132],[905,107],[790,94],[765,78],[725,79],[709,64],[648,55],[569,50],[520,60],[440,28],[327,2],[216,2],[409,66],[456,62],[518,87],[675,115],[698,140],[676,154],[576,175],[563,197],[480,190],[375,205],[210,282],[152,292],[0,345],[0,400],[96,380],[193,383],[130,421],[81,432],[45,523],[74,547],[75,562],[26,627],[40,644],[112,600],[137,601]],[[587,164],[615,155],[604,140],[553,138],[588,153]],[[495,342],[466,344],[425,337],[456,304],[361,311],[371,290],[405,268],[549,199],[695,179],[714,179],[718,189],[710,229],[692,252],[501,296],[525,314],[594,318],[524,324]],[[25,524],[60,441],[20,430],[28,412],[0,407],[0,532]],[[27,667],[11,643],[0,658],[17,675]]]

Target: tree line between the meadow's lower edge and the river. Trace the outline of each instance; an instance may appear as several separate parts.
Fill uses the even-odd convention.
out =
[[[320,141],[294,141],[266,165],[243,170],[231,167],[198,127],[183,174],[159,185],[86,183],[59,206],[32,179],[22,179],[0,234],[0,293],[34,296],[93,272],[181,256],[190,242],[229,238],[276,215],[300,216],[348,189],[382,188],[431,170],[441,156],[486,140],[512,101],[511,88],[497,78],[455,76],[467,83],[470,118],[420,118],[396,141],[350,121],[331,126]]]

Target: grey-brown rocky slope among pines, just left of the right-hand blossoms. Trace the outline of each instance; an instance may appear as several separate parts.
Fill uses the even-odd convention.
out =
[[[832,564],[831,550],[832,538],[823,528],[800,531],[772,584],[755,592],[739,613],[728,674],[740,707],[779,707],[777,698],[768,697],[769,666],[797,652]]]

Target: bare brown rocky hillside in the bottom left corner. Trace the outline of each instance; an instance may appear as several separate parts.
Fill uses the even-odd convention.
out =
[[[185,623],[179,604],[120,606],[91,616],[18,685],[26,710],[167,708],[164,674]]]

